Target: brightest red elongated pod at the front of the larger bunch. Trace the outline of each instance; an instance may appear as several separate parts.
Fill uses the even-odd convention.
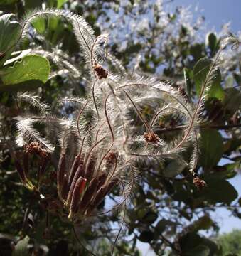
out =
[[[72,218],[73,215],[77,212],[77,206],[78,206],[78,203],[80,203],[80,197],[82,196],[82,192],[85,189],[86,181],[87,181],[86,178],[80,177],[78,178],[75,184],[75,188],[73,191],[73,196],[70,204],[70,214],[68,215],[68,218]]]

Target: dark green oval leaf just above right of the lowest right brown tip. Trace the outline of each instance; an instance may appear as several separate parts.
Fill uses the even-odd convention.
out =
[[[215,129],[203,129],[201,142],[199,162],[203,169],[210,169],[223,156],[223,138]]]

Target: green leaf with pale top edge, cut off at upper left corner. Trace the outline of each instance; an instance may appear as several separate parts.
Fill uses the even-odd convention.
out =
[[[16,21],[10,21],[13,14],[0,16],[0,67],[14,51],[16,43],[21,36],[21,25]]]

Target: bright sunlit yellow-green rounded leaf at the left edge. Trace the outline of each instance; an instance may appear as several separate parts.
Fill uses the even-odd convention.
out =
[[[21,61],[16,61],[13,67],[4,68],[1,80],[4,85],[14,85],[26,80],[41,80],[46,82],[50,74],[48,60],[39,55],[27,55]]]

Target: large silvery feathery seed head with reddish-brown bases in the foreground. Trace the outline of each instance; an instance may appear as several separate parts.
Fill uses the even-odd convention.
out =
[[[55,151],[58,167],[53,186],[57,184],[57,204],[61,213],[75,221],[97,214],[97,206],[113,189],[122,198],[114,208],[123,206],[138,182],[140,161],[148,164],[166,157],[181,157],[181,151],[191,146],[192,154],[186,166],[194,174],[198,159],[197,124],[215,64],[203,84],[198,103],[193,106],[171,84],[128,73],[108,53],[107,35],[95,37],[86,21],[75,14],[51,9],[35,11],[23,21],[21,38],[39,16],[58,16],[73,24],[89,72],[85,97],[65,97],[59,101],[60,109],[75,106],[75,112],[68,118],[51,115],[48,105],[36,95],[18,95],[18,100],[38,108],[38,114],[26,113],[17,120],[16,142],[23,146],[23,160],[16,159],[16,169],[24,186],[41,191],[41,180]],[[105,68],[107,61],[116,73]],[[168,142],[156,132],[161,117],[166,114],[172,114],[186,125],[183,132]],[[36,130],[36,123],[45,125],[44,134]],[[28,177],[32,154],[41,159],[38,184]],[[44,191],[41,193],[44,196]]]

